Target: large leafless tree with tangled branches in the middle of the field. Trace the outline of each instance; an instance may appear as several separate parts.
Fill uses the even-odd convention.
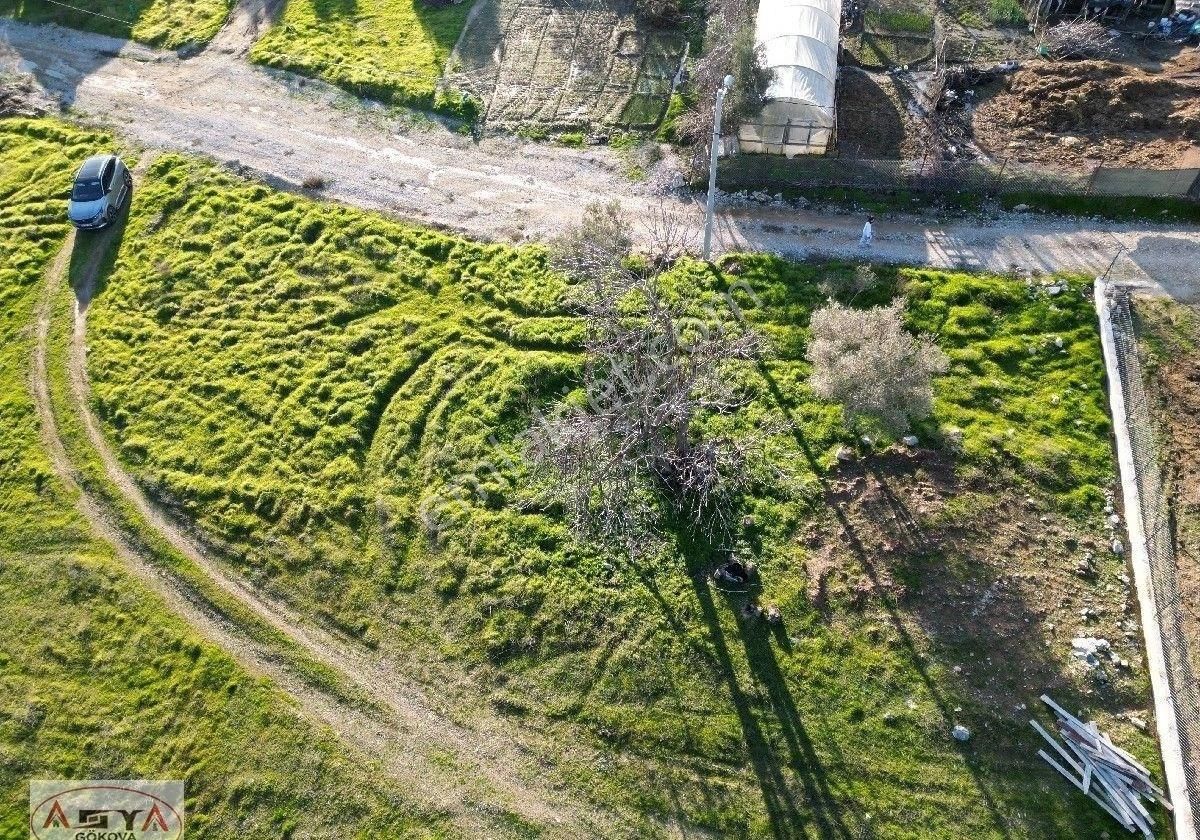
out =
[[[689,316],[666,293],[660,271],[682,236],[672,220],[650,224],[665,239],[649,259],[613,247],[630,229],[619,208],[589,208],[554,242],[554,264],[577,281],[586,400],[540,416],[529,452],[577,533],[636,551],[656,535],[664,504],[709,535],[730,528],[754,442],[706,437],[696,421],[745,403],[730,368],[763,342],[736,306],[732,317]]]

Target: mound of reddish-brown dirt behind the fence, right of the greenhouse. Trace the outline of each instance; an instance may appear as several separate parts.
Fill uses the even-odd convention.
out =
[[[991,154],[1174,168],[1200,146],[1200,84],[1111,61],[1036,64],[1008,77],[972,124]]]

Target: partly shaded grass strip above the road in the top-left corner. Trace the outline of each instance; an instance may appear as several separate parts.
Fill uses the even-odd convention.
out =
[[[224,23],[232,0],[0,0],[0,14],[32,23],[56,23],[174,49],[205,43]]]

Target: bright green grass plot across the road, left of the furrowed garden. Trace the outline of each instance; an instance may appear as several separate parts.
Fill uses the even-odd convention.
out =
[[[434,85],[469,11],[469,2],[289,0],[250,56],[383,102],[449,108]]]

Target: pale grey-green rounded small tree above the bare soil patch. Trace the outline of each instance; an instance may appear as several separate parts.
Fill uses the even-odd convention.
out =
[[[904,328],[904,300],[852,310],[835,301],[812,313],[809,384],[817,396],[840,402],[852,415],[877,419],[894,434],[910,418],[934,409],[932,379],[949,366],[930,336]]]

